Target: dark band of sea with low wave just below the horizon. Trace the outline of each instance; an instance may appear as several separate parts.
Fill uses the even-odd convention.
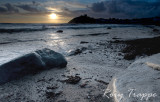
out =
[[[99,29],[99,28],[117,28],[117,27],[133,27],[134,25],[119,25],[119,24],[1,24],[0,33],[27,33],[35,31],[45,31],[49,29],[65,30],[65,29]]]

